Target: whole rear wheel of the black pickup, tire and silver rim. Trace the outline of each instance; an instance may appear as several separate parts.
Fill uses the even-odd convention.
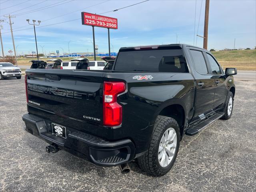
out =
[[[176,120],[158,116],[149,149],[138,158],[138,164],[151,175],[163,176],[172,168],[179,146],[180,129]]]

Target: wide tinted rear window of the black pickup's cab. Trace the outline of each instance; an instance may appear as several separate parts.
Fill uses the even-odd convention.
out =
[[[187,73],[181,49],[119,52],[114,70]]]

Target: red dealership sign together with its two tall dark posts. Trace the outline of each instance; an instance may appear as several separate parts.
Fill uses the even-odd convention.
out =
[[[109,29],[110,28],[117,29],[117,19],[112,18],[112,17],[102,16],[102,15],[86,13],[86,12],[81,12],[81,15],[82,15],[82,25],[92,26],[94,60],[96,60],[94,26],[108,28],[108,54],[110,56],[110,31],[109,31]]]

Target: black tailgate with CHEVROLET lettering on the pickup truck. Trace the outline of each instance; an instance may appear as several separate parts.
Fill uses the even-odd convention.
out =
[[[102,127],[102,72],[30,69],[26,75],[29,113],[99,133],[95,129]]]

